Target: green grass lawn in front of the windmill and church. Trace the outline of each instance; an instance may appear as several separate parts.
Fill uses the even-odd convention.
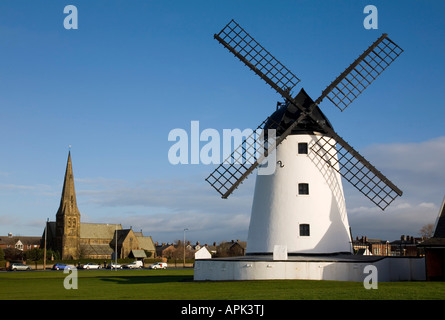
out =
[[[422,300],[445,299],[445,282],[260,280],[194,282],[192,269],[79,270],[67,290],[62,271],[0,273],[1,300]]]

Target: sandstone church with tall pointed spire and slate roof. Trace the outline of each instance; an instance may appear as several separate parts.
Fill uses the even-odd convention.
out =
[[[62,196],[56,221],[48,221],[42,235],[42,247],[59,252],[60,258],[114,259],[155,256],[151,237],[120,224],[83,223],[77,207],[71,151],[68,152]]]

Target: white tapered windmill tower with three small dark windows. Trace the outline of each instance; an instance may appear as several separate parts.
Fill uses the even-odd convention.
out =
[[[289,253],[351,252],[341,176],[310,150],[318,139],[289,135],[276,149],[275,173],[257,175],[247,254],[271,253],[275,245]],[[299,154],[299,143],[307,143],[307,154]],[[299,184],[309,194],[300,194]]]

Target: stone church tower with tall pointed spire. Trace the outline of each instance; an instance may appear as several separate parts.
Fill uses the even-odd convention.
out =
[[[62,259],[78,259],[80,256],[80,212],[74,189],[71,152],[68,153],[62,197],[56,214],[56,246]]]

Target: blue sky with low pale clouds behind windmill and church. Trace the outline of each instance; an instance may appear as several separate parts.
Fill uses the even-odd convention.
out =
[[[66,5],[79,28],[66,30]],[[378,30],[363,9],[378,9]],[[277,93],[213,34],[234,18],[314,99],[382,33],[404,53],[337,132],[403,191],[379,212],[345,186],[353,235],[394,240],[433,223],[445,194],[443,1],[10,1],[0,3],[0,235],[40,235],[71,145],[84,222],[155,241],[247,238],[254,175],[228,200],[208,165],[168,161],[175,128],[255,128]]]

